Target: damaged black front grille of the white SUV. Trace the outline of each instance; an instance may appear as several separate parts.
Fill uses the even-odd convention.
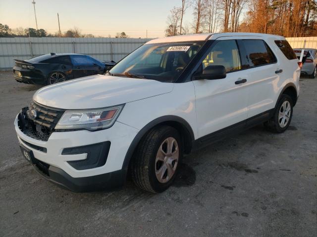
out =
[[[32,110],[36,112],[35,118],[34,114],[32,116]],[[48,141],[63,113],[64,110],[57,110],[31,102],[29,107],[21,110],[18,116],[18,125],[20,130],[27,136],[41,141]]]

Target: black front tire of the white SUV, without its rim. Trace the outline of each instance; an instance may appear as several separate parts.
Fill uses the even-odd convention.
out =
[[[175,166],[176,170],[171,175],[171,178],[168,179],[166,183],[161,183],[156,175],[157,164],[159,163],[159,161],[156,163],[156,158],[161,144],[166,141],[167,138],[176,140],[178,145],[178,160]],[[175,128],[162,125],[152,129],[141,139],[132,159],[130,167],[134,183],[139,188],[151,193],[161,193],[165,191],[172,184],[177,175],[182,156],[182,139]],[[166,170],[166,172],[168,171]]]

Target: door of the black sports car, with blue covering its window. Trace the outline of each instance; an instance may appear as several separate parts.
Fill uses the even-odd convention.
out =
[[[71,55],[70,57],[73,64],[72,73],[74,78],[81,78],[99,73],[100,66],[98,66],[91,57],[86,55]]]

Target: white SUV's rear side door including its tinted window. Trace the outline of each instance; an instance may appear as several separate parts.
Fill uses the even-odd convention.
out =
[[[276,85],[286,69],[279,65],[264,40],[242,38],[238,44],[243,48],[241,56],[248,65],[245,71],[249,75],[246,83],[249,88],[248,118],[252,118],[274,108]]]

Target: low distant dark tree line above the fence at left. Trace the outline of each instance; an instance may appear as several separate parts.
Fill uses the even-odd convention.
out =
[[[69,37],[69,38],[95,38],[93,34],[82,34],[81,30],[77,27],[69,29],[65,32],[62,32],[59,35],[59,32],[53,34],[47,33],[44,29],[34,29],[34,28],[22,28],[18,27],[11,29],[8,25],[2,25],[0,23],[0,37]],[[111,38],[110,35],[108,35]],[[129,38],[124,32],[116,33],[115,38]]]

